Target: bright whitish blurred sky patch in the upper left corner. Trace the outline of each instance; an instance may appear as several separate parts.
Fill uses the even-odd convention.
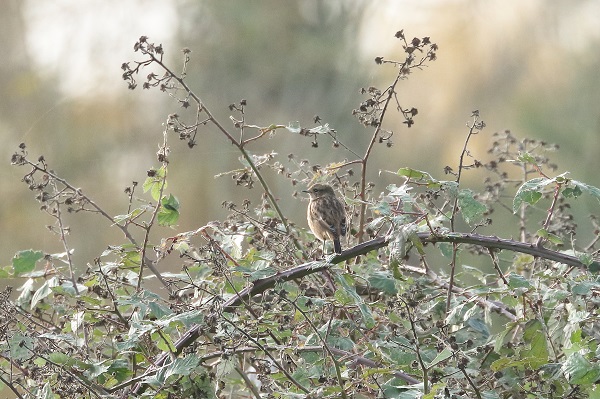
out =
[[[71,95],[122,91],[119,66],[139,36],[168,44],[177,23],[172,1],[33,0],[24,12],[29,56]]]

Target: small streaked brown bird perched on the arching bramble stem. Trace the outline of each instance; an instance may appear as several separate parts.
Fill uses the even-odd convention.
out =
[[[333,188],[327,184],[314,184],[305,193],[310,195],[306,218],[314,235],[323,241],[332,240],[336,254],[342,253],[340,237],[346,235],[346,211],[344,204],[336,196]]]

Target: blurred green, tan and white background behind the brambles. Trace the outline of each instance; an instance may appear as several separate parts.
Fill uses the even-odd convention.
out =
[[[400,29],[409,40],[431,37],[440,50],[437,61],[398,87],[402,106],[419,114],[410,129],[390,114],[386,127],[395,132],[394,146],[376,147],[370,165],[376,191],[399,182],[379,177],[381,169],[408,166],[450,178],[443,168],[456,168],[474,109],[487,124],[472,141],[477,159],[489,158],[493,132],[510,129],[558,144],[556,173],[570,171],[600,186],[600,0],[5,0],[0,266],[18,250],[64,250],[45,228],[53,220],[21,182],[28,170],[10,165],[19,143],[27,144],[32,160],[43,154],[112,215],[126,213],[124,188],[158,166],[162,123],[170,113],[186,114],[164,93],[141,85],[131,91],[121,79],[120,65],[139,59],[133,45],[141,35],[163,44],[174,70],[181,68],[181,49],[192,51],[188,85],[226,126],[228,105],[243,98],[248,123],[312,127],[319,115],[362,154],[372,132],[352,109],[364,99],[361,87],[384,88],[393,79],[391,66],[373,60],[403,59],[394,38]],[[223,200],[241,203],[257,191],[235,186],[230,177],[215,179],[240,167],[239,155],[212,128],[198,139],[192,150],[170,142],[169,191],[180,199],[182,217],[177,230],[160,232],[164,236],[220,219]],[[319,164],[354,158],[326,140],[314,149],[309,139],[285,131],[251,150],[275,150],[285,165],[292,152]],[[267,176],[284,211],[306,226],[306,202],[292,196],[289,181]],[[481,185],[479,177],[465,178],[475,189]],[[577,201],[580,218],[598,214],[596,201]],[[107,245],[123,243],[98,216],[69,215],[67,221],[80,268]],[[512,227],[505,236],[516,236]],[[497,229],[494,234],[503,234]]]

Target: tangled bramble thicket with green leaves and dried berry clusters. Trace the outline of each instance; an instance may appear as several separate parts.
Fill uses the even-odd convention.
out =
[[[598,397],[597,221],[576,246],[569,212],[581,195],[600,200],[600,190],[557,173],[555,146],[509,131],[493,133],[491,161],[478,160],[469,147],[485,128],[477,111],[445,173],[390,162],[397,184],[369,182],[373,154],[418,119],[398,85],[436,58],[428,37],[395,36],[405,58],[375,60],[395,78],[364,88],[352,111],[371,132],[363,149],[318,117],[312,127],[249,121],[245,100],[229,106],[230,121],[215,119],[186,84],[190,52],[177,72],[147,37],[123,78],[130,89],[169,94],[181,113],[166,117],[156,163],[126,188],[122,214],[22,144],[12,164],[26,169],[23,182],[64,252],[20,251],[1,271],[26,277],[16,300],[7,289],[0,301],[4,389],[19,398]],[[392,112],[404,126],[386,124]],[[226,219],[173,235],[183,188],[167,185],[170,146],[179,139],[194,151],[207,126],[240,154],[242,166],[223,175],[261,201],[227,199]],[[349,159],[316,165],[252,152],[275,134],[341,147]],[[487,176],[480,192],[463,183],[473,169]],[[322,253],[305,224],[286,217],[268,184],[278,178],[297,191],[336,188],[351,226],[342,254]],[[67,213],[108,221],[123,242],[83,270],[71,258]],[[480,235],[494,218],[513,218],[518,240]],[[161,271],[167,258],[177,272]]]

